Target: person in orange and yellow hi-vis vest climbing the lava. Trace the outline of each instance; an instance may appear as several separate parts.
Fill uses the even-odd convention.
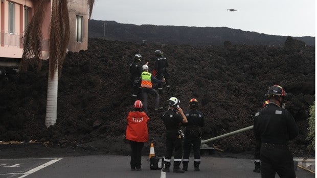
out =
[[[162,80],[158,80],[151,73],[149,73],[149,67],[148,65],[143,65],[142,66],[143,72],[141,74],[141,88],[142,88],[142,97],[143,97],[143,108],[144,111],[147,113],[147,98],[148,98],[148,93],[155,95],[155,110],[161,110],[163,107],[160,107],[160,95],[157,93],[155,89],[153,89],[152,86],[152,81],[154,82],[165,82],[165,79],[163,78]]]

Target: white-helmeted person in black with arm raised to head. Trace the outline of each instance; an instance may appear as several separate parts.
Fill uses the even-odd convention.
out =
[[[168,100],[169,108],[161,116],[166,126],[166,155],[164,158],[164,172],[170,171],[171,159],[173,150],[174,152],[174,168],[173,172],[184,173],[185,171],[180,169],[179,165],[182,162],[182,131],[180,130],[181,123],[187,123],[187,118],[179,107],[179,100],[176,97],[171,97]]]

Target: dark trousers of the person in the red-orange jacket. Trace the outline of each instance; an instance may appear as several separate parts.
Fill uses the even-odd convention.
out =
[[[131,168],[141,168],[141,152],[144,146],[144,142],[130,141],[131,146]]]

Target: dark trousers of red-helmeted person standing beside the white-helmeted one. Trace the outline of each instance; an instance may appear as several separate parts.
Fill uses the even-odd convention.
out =
[[[200,164],[200,137],[185,137],[184,139],[184,156],[183,156],[183,165],[185,167],[188,166],[189,162],[189,155],[192,149],[193,144],[193,151],[194,151],[194,167],[199,167]]]

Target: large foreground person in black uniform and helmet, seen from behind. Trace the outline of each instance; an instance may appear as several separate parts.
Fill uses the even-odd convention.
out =
[[[269,104],[254,117],[254,135],[261,142],[261,177],[295,178],[292,153],[288,149],[288,141],[295,138],[298,127],[294,118],[281,108],[285,90],[274,85],[265,94]]]

